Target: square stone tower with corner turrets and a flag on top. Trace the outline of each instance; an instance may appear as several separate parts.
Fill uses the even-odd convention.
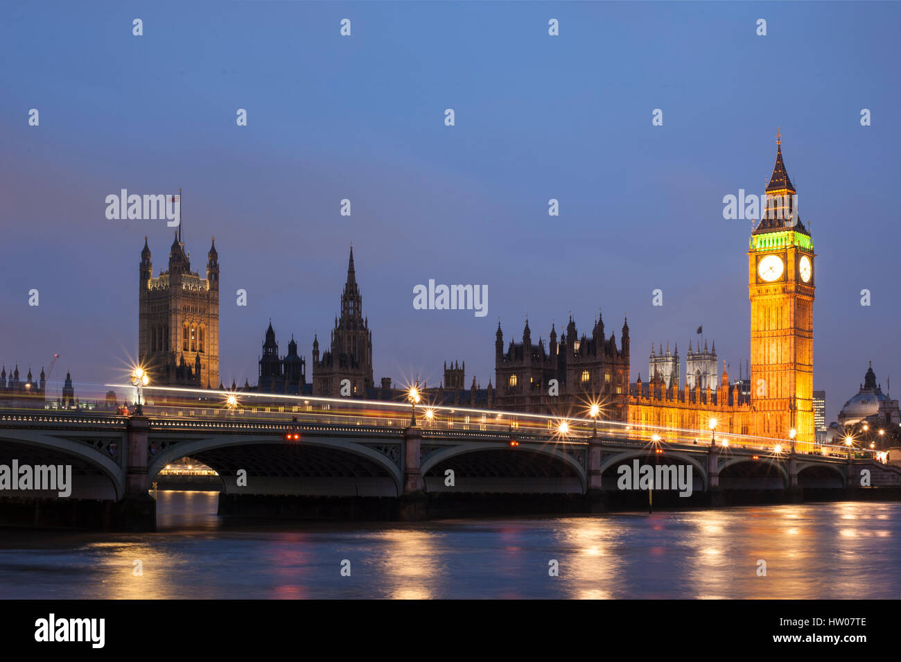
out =
[[[215,388],[219,384],[219,256],[215,240],[206,277],[191,271],[181,226],[168,271],[153,276],[147,237],[141,250],[138,361],[153,385]]]

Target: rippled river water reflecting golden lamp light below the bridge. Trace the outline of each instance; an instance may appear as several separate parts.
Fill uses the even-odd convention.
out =
[[[901,503],[225,527],[217,496],[160,492],[151,534],[0,529],[0,598],[901,596]]]

